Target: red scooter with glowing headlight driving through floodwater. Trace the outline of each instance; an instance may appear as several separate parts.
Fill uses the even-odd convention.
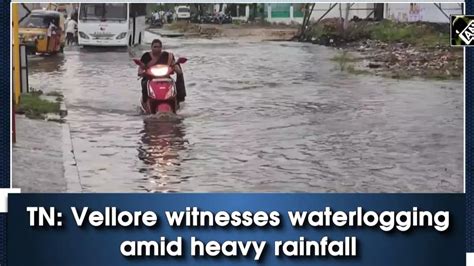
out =
[[[171,77],[174,68],[168,65],[154,65],[146,67],[139,59],[133,59],[135,64],[144,69],[143,76],[148,79],[147,90],[148,100],[143,102],[140,97],[141,109],[143,113],[175,113],[179,109],[177,99],[176,83]],[[184,57],[178,58],[176,64],[184,64],[188,61]]]

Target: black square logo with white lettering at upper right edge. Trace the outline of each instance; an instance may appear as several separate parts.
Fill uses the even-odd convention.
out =
[[[474,15],[451,16],[451,45],[474,46]]]

